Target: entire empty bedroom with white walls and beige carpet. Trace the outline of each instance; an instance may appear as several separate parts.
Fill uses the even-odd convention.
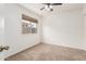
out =
[[[85,3],[0,3],[1,61],[86,61]]]

